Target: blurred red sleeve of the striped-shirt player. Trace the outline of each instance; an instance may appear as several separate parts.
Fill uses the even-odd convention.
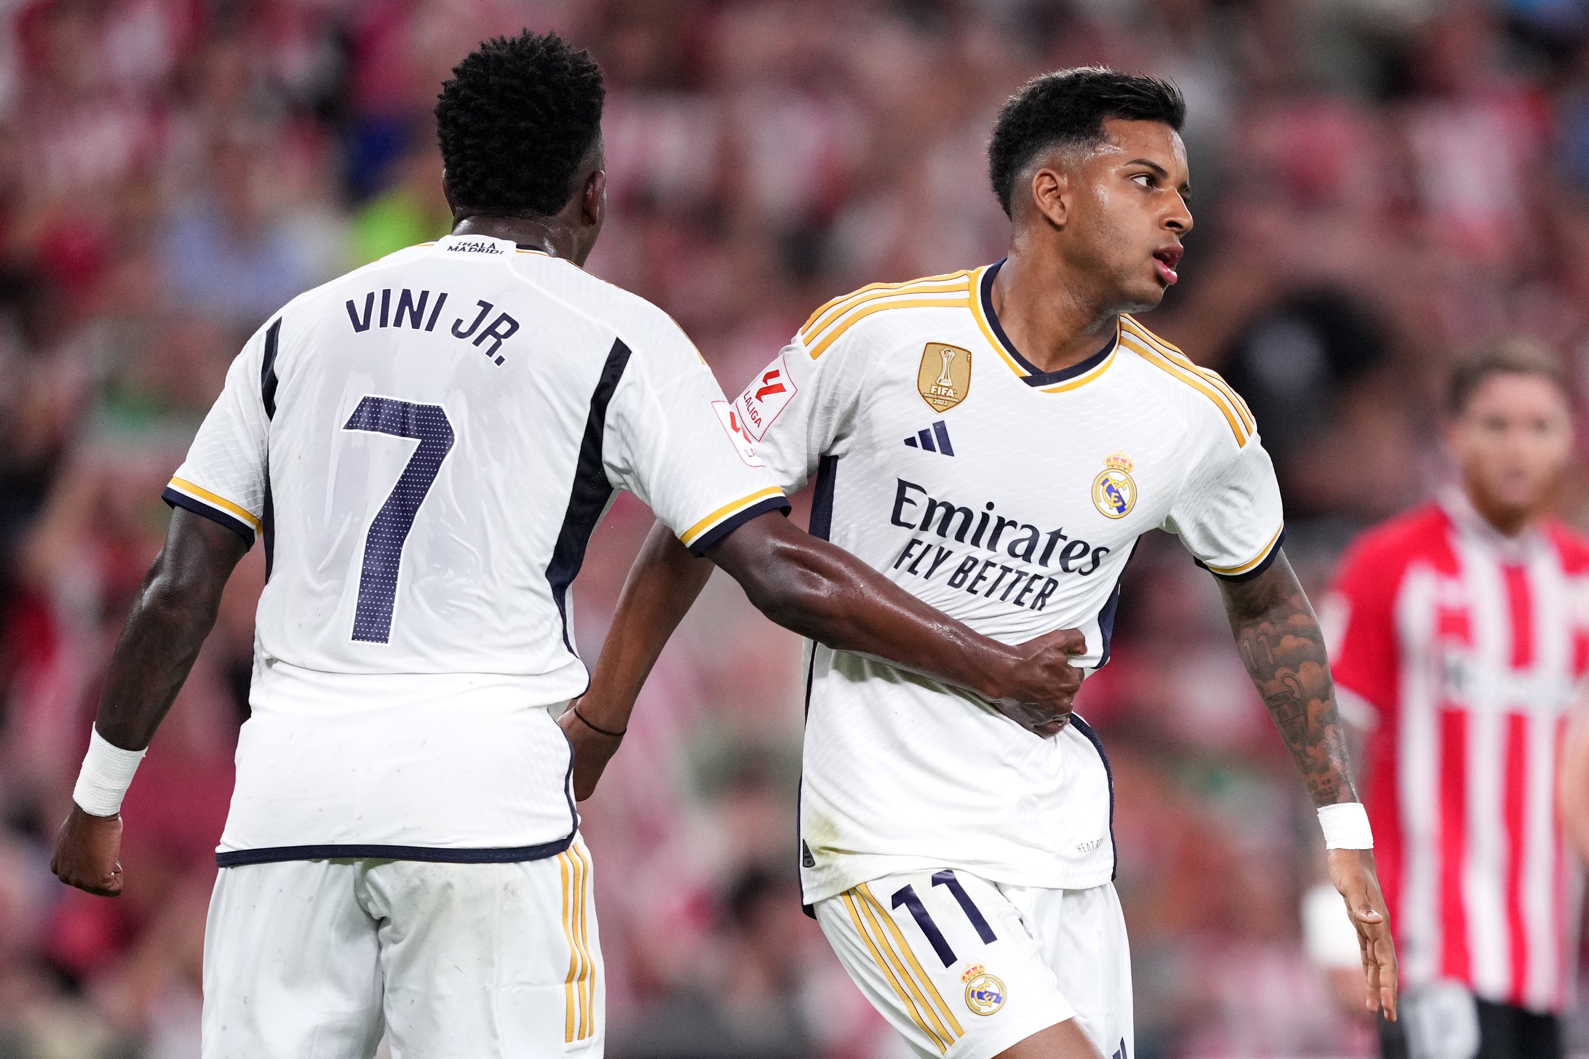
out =
[[[1379,551],[1349,549],[1320,605],[1336,700],[1359,727],[1373,727],[1394,710],[1397,697],[1395,597],[1401,570]]]

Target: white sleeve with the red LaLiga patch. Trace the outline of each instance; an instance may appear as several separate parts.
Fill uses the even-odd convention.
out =
[[[849,338],[814,357],[796,337],[734,399],[734,427],[787,492],[804,489],[852,433],[866,360],[849,352]]]

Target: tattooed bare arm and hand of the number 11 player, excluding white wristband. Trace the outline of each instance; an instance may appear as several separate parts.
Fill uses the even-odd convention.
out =
[[[1335,708],[1324,630],[1286,553],[1249,581],[1220,580],[1241,660],[1301,768],[1314,807],[1357,802]],[[1367,826],[1365,826],[1367,829]],[[1365,843],[1367,845],[1367,843]],[[1346,900],[1368,978],[1368,1010],[1395,1019],[1397,961],[1373,849],[1330,849],[1330,880]]]

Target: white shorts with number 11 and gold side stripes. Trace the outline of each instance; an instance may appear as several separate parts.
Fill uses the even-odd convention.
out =
[[[901,872],[817,903],[850,978],[923,1059],[992,1059],[1074,1018],[1130,1059],[1131,956],[1114,884],[1039,889]]]

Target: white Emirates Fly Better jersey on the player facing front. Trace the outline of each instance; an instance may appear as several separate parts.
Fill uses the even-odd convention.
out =
[[[1255,576],[1279,548],[1279,489],[1241,399],[1131,318],[1096,356],[1038,372],[993,311],[998,267],[829,302],[731,426],[782,487],[815,476],[812,532],[1004,643],[1081,629],[1090,672],[1142,532]],[[926,867],[1109,881],[1109,767],[1084,719],[1046,740],[872,659],[817,646],[809,665],[807,902]]]

